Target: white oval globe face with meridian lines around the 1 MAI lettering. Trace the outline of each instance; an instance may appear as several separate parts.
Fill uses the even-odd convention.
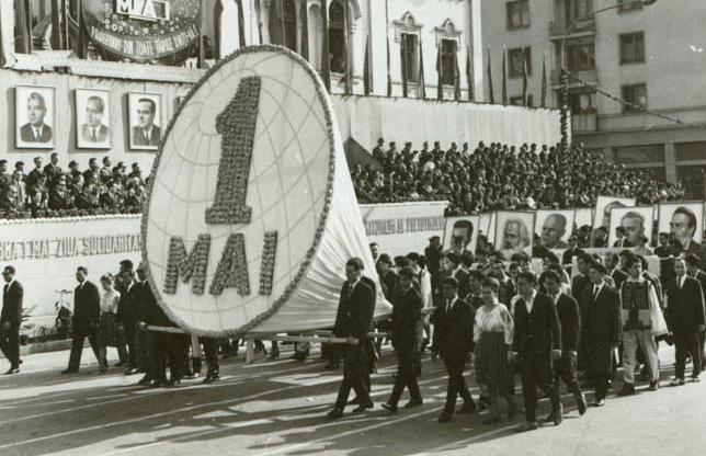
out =
[[[205,214],[215,204],[225,146],[217,118],[228,110],[243,78],[252,77],[259,78],[260,91],[257,113],[250,113],[257,116],[244,197],[251,208],[250,221],[207,223]],[[316,252],[317,232],[326,224],[327,194],[330,201],[332,192],[334,147],[329,103],[310,67],[274,48],[237,53],[183,102],[155,162],[143,220],[144,258],[152,289],[180,326],[198,333],[240,331],[272,312],[296,287]],[[232,118],[226,112],[220,122],[227,124],[226,132],[232,132],[228,128],[242,126],[247,118]],[[242,168],[238,162],[232,171]],[[224,185],[218,191],[224,189],[232,190]],[[271,293],[263,295],[260,276],[267,231],[276,231],[276,253]],[[249,293],[226,286],[214,295],[209,287],[226,241],[234,233],[242,233],[244,239]],[[194,276],[185,283],[182,274],[175,292],[166,293],[170,240],[180,238],[189,253],[202,235],[210,236],[203,293],[193,292]]]

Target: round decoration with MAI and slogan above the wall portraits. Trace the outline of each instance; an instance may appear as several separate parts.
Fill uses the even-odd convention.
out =
[[[200,35],[198,0],[82,0],[93,44],[111,60],[182,62]]]

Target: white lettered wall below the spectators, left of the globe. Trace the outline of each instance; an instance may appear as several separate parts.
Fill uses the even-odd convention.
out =
[[[76,269],[86,266],[96,285],[122,260],[139,261],[139,215],[35,218],[0,221],[0,258],[12,264],[24,288],[23,308],[32,329],[54,328],[59,290],[73,290]],[[67,295],[73,308],[73,295]]]

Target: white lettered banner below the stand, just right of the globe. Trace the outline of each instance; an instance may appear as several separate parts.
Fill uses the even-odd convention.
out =
[[[392,258],[423,252],[429,238],[444,236],[448,202],[362,204],[363,225],[369,242]]]

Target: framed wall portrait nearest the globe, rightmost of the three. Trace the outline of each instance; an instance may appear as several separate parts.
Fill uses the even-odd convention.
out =
[[[128,93],[129,148],[157,150],[162,139],[162,96],[159,93]]]

